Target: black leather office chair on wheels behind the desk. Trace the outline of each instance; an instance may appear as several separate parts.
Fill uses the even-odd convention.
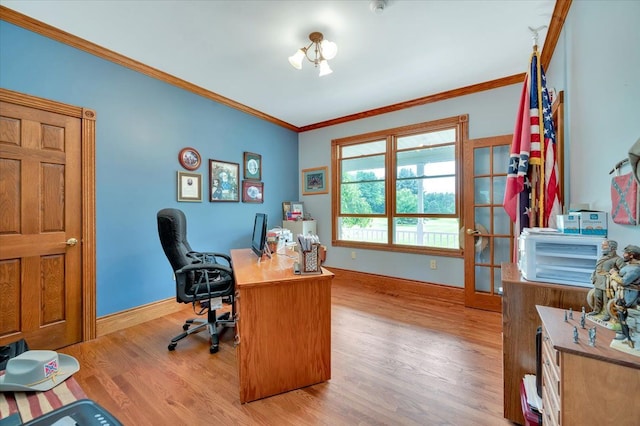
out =
[[[158,234],[164,253],[173,268],[176,279],[176,300],[191,303],[198,315],[207,314],[207,319],[187,320],[182,329],[184,333],[171,339],[169,350],[176,348],[179,340],[205,328],[211,336],[209,352],[218,352],[218,328],[220,332],[235,326],[235,279],[231,258],[222,253],[202,253],[191,249],[187,241],[187,220],[184,212],[178,209],[162,209],[158,212]],[[213,299],[221,297],[223,302],[231,304],[231,312],[216,317]],[[193,325],[193,327],[191,327]]]

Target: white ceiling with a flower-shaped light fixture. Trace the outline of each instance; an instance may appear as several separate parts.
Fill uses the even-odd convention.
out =
[[[555,0],[0,0],[296,127],[526,71]],[[320,31],[333,74],[288,56]],[[547,30],[540,32],[544,45]]]

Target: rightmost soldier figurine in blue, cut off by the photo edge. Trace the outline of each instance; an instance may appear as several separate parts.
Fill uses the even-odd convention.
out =
[[[622,338],[630,347],[634,347],[627,325],[627,309],[640,302],[640,247],[629,245],[623,253],[626,264],[619,272],[611,271],[612,287],[615,286],[617,299],[613,308],[622,328]],[[613,312],[614,309],[611,309]]]

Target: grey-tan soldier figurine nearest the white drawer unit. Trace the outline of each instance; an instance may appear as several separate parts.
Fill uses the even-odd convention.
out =
[[[620,270],[624,266],[624,259],[616,254],[618,243],[614,240],[603,240],[602,257],[596,262],[596,268],[591,273],[591,282],[593,288],[587,294],[587,303],[591,306],[592,311],[589,316],[598,315],[604,312],[603,321],[609,321],[609,315],[606,306],[609,301],[610,294],[607,294],[610,282],[610,271]],[[610,292],[609,292],[610,293]]]

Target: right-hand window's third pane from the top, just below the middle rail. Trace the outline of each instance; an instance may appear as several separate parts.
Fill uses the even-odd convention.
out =
[[[396,182],[397,213],[455,214],[455,177]]]

